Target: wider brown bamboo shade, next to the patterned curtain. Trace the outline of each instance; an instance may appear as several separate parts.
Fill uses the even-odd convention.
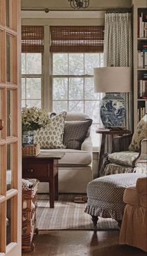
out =
[[[51,53],[103,53],[104,26],[50,26]]]

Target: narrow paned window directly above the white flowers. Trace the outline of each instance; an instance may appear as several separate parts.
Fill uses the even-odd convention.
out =
[[[22,106],[42,103],[42,53],[22,53]]]

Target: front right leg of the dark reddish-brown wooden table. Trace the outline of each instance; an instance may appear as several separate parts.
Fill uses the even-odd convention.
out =
[[[49,173],[49,198],[50,198],[50,208],[54,208],[54,200],[55,200],[55,183],[54,183],[54,168],[53,164],[50,165],[50,173]]]

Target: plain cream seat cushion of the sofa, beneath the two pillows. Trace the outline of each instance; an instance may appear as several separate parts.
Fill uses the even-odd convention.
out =
[[[44,151],[44,150],[41,150]],[[45,150],[45,152],[60,152],[61,150]],[[59,160],[59,167],[86,166],[92,162],[92,156],[87,151],[62,149],[64,157]]]

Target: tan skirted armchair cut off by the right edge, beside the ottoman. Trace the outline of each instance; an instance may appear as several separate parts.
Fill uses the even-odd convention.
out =
[[[126,188],[126,203],[120,230],[120,244],[138,247],[147,252],[146,195],[147,178],[138,178],[135,185]]]

